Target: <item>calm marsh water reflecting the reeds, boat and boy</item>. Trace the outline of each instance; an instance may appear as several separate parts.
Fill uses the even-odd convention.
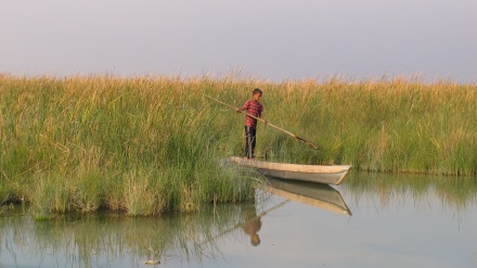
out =
[[[0,267],[477,267],[476,178],[270,184],[253,204],[192,215],[35,221],[2,208]]]

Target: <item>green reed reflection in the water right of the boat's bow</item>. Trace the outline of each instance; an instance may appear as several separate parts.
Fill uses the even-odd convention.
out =
[[[417,209],[429,206],[434,199],[455,212],[477,204],[475,177],[351,173],[340,189],[357,206],[369,199],[382,208],[413,202]]]

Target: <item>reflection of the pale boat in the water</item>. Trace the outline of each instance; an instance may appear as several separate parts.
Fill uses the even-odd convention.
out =
[[[341,194],[327,184],[307,181],[288,181],[267,177],[266,191],[300,202],[310,206],[323,208],[337,214],[351,216],[351,212],[341,197]]]

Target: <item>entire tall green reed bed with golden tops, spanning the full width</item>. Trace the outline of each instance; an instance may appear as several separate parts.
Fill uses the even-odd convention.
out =
[[[42,217],[103,208],[158,215],[252,200],[253,176],[220,165],[242,154],[243,115],[203,93],[241,106],[257,87],[265,118],[321,146],[259,125],[259,157],[477,173],[476,85],[2,75],[0,202],[29,202]]]

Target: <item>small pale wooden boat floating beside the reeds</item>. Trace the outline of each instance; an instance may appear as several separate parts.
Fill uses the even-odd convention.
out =
[[[247,159],[242,157],[232,156],[232,163],[240,166],[255,168],[258,173],[289,180],[302,180],[320,182],[325,184],[338,186],[345,179],[346,174],[351,166],[321,166],[321,165],[298,165],[298,164],[285,164],[263,162],[256,159]]]

